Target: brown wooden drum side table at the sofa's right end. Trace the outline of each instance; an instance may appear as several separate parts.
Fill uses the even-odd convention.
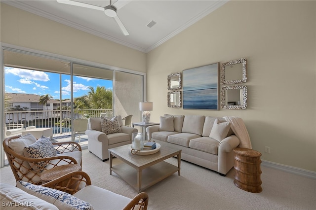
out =
[[[234,153],[234,184],[248,192],[261,192],[261,153],[247,148],[235,148]]]

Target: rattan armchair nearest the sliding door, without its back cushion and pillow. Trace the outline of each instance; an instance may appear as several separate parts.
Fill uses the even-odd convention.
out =
[[[10,141],[15,140],[21,136],[15,136],[7,138],[3,141],[3,149],[7,156],[9,165],[11,167],[11,170],[13,172],[13,175],[16,179],[27,181],[32,184],[42,184],[42,181],[40,180],[40,174],[55,168],[60,165],[67,165],[67,164],[78,164],[80,161],[80,166],[82,166],[81,163],[81,146],[76,142],[62,142],[62,143],[53,143],[55,146],[55,149],[58,151],[58,155],[54,157],[48,157],[48,158],[29,158],[25,157],[24,155],[18,154],[14,150],[10,148]],[[79,155],[78,152],[79,151]],[[71,156],[71,154],[76,153],[79,158],[74,158]],[[77,157],[76,156],[76,157]],[[80,159],[78,161],[78,159]],[[45,161],[45,165],[38,170],[34,170],[34,168],[31,167],[31,165],[37,165],[38,162]],[[30,164],[31,163],[31,164]]]

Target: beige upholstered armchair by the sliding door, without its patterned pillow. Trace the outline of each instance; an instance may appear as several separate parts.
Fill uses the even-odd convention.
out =
[[[99,157],[102,161],[109,159],[108,149],[132,143],[132,134],[138,132],[136,128],[123,126],[120,116],[118,116],[120,132],[105,134],[102,132],[101,117],[91,117],[88,119],[88,149]]]

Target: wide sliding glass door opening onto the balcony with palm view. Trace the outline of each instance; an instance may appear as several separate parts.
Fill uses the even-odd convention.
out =
[[[75,119],[105,113],[109,117],[132,114],[133,122],[141,120],[139,102],[144,98],[144,73],[32,50],[1,50],[2,140],[7,137],[7,129],[17,126],[52,127],[53,140],[68,136],[73,141],[81,140],[84,147],[87,137],[79,139],[75,135]],[[2,167],[2,143],[0,152]]]

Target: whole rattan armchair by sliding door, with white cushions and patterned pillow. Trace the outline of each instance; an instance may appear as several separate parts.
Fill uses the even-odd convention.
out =
[[[17,181],[41,184],[40,174],[44,171],[67,164],[81,166],[81,147],[76,142],[51,143],[26,134],[5,139],[3,149]]]

